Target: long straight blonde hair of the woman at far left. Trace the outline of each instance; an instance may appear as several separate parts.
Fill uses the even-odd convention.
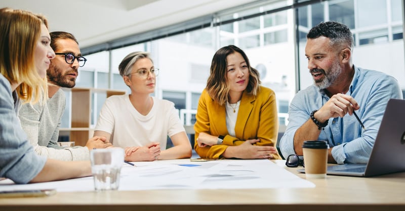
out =
[[[48,96],[47,80],[41,78],[34,62],[36,42],[41,25],[48,21],[28,11],[0,9],[0,72],[18,83],[18,97],[23,102],[37,102]]]

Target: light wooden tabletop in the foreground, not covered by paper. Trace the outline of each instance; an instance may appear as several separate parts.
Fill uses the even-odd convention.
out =
[[[284,166],[285,161],[274,161]],[[287,168],[296,173],[297,168]],[[0,210],[405,210],[405,172],[310,179],[315,188],[58,192],[0,199]]]

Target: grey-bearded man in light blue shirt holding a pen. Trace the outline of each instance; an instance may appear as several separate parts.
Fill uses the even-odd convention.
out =
[[[352,52],[352,33],[341,23],[320,23],[308,32],[305,56],[314,85],[290,104],[280,140],[284,157],[302,155],[306,140],[326,140],[329,163],[368,162],[387,102],[402,92],[395,78],[354,66]]]

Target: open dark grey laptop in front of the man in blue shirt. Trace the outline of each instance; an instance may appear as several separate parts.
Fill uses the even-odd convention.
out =
[[[405,100],[390,99],[367,164],[328,166],[327,174],[372,177],[405,171]],[[299,172],[304,172],[300,169]]]

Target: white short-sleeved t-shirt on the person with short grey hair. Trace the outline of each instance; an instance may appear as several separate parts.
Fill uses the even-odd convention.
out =
[[[132,105],[129,95],[113,95],[106,99],[95,130],[111,134],[114,146],[144,146],[159,142],[166,149],[167,137],[185,132],[174,103],[152,97],[153,107],[143,116]]]

